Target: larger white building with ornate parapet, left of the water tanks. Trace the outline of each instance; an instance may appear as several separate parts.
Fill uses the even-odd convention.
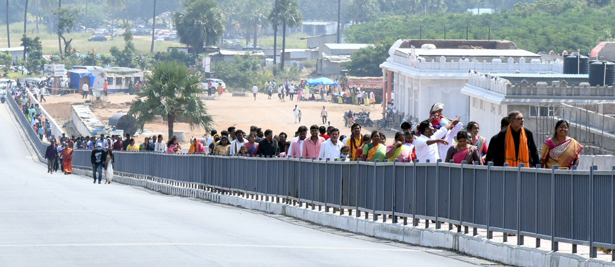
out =
[[[466,124],[470,100],[461,94],[461,89],[466,86],[470,70],[561,73],[563,63],[542,60],[538,54],[517,49],[510,41],[398,40],[380,66],[384,101],[391,102],[391,93],[395,93],[394,111],[400,119],[422,121],[428,118],[434,103],[443,103],[445,116],[461,116]]]

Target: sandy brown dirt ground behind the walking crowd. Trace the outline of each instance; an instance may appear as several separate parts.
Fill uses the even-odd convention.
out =
[[[109,117],[118,112],[127,113],[129,110],[130,101],[133,96],[128,94],[109,94],[108,102],[94,102],[92,103],[92,110],[97,114],[98,119],[108,124]],[[267,99],[265,94],[258,94],[256,101],[250,94],[246,97],[233,97],[230,93],[224,93],[217,100],[204,100],[207,105],[208,112],[213,116],[213,124],[218,132],[226,130],[230,126],[235,126],[236,129],[244,130],[248,132],[250,126],[258,126],[264,130],[271,129],[274,134],[285,132],[292,137],[299,126],[311,126],[316,124],[322,126],[322,119],[320,118],[320,110],[324,105],[328,111],[327,120],[331,122],[332,126],[339,128],[341,135],[349,135],[350,129],[344,127],[343,116],[344,112],[352,110],[355,112],[361,111],[366,108],[371,112],[371,119],[382,118],[382,107],[376,106],[357,106],[346,105],[332,102],[290,102],[288,98],[286,102],[280,102],[277,98],[277,94],[272,95],[272,99]],[[296,95],[295,95],[296,98]],[[330,97],[325,96],[325,99]],[[58,123],[65,124],[71,120],[71,103],[84,103],[81,95],[69,94],[63,96],[49,96],[47,102],[42,105],[53,116]],[[301,123],[295,124],[293,116],[293,108],[295,105],[301,109],[303,113]],[[208,133],[203,129],[190,129],[187,123],[176,123],[175,130],[184,130],[186,132],[186,139],[191,137],[203,137]],[[376,130],[375,127],[364,127],[363,134],[368,134],[371,130]],[[383,131],[387,137],[387,144],[392,143],[394,136],[393,131]],[[137,136],[152,136],[162,134],[164,139],[167,140],[167,123],[164,121],[156,121],[145,125],[143,133],[137,134]],[[137,138],[140,142],[141,138]]]

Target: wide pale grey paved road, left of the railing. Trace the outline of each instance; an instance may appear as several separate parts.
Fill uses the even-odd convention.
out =
[[[293,218],[46,173],[0,106],[0,266],[476,266]]]

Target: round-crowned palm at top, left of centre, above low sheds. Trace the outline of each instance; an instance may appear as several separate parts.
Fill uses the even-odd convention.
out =
[[[203,46],[213,46],[224,34],[224,17],[212,0],[188,0],[186,9],[175,13],[173,22],[180,42],[191,46],[196,54]]]

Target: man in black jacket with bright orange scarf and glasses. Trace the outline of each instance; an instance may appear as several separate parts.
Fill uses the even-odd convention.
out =
[[[493,165],[504,166],[504,162],[510,167],[517,167],[523,163],[525,167],[534,167],[540,164],[538,149],[534,143],[534,134],[523,128],[523,114],[519,111],[511,111],[508,114],[510,125],[499,132],[493,155]]]

